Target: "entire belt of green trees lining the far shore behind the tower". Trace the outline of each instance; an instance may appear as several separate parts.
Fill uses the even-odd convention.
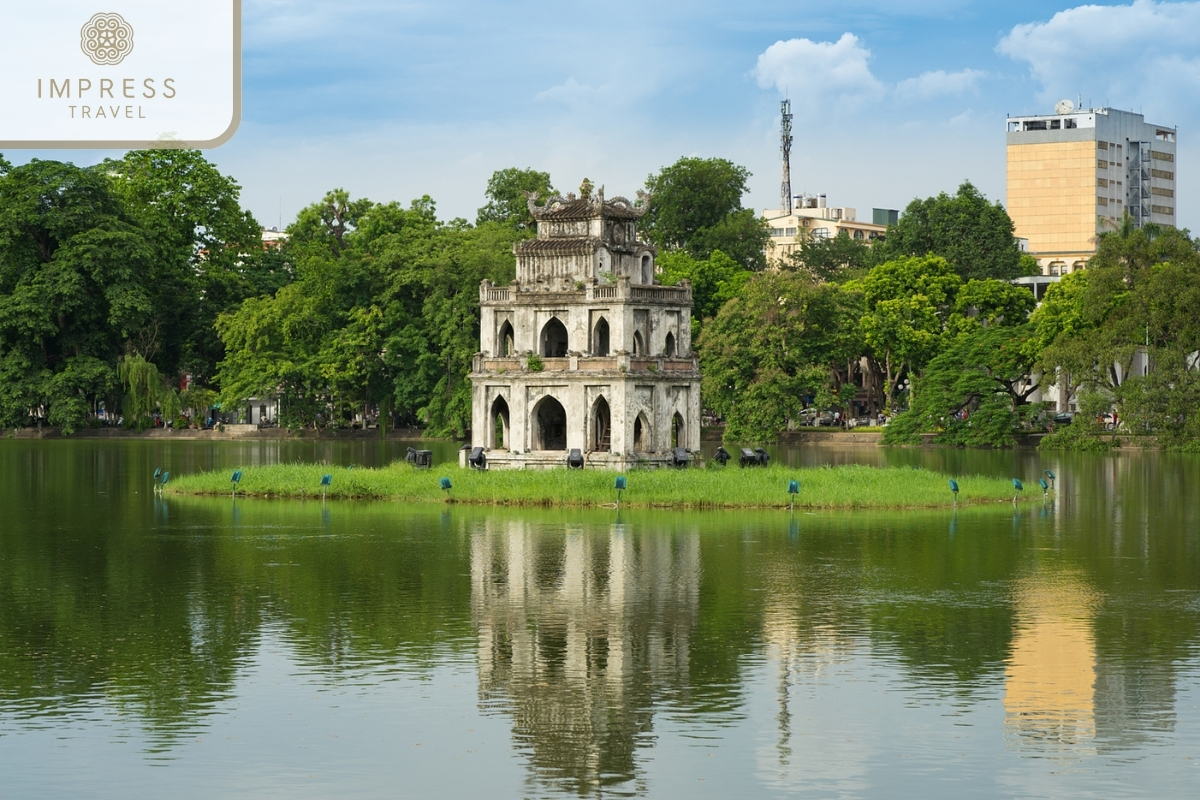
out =
[[[1004,210],[971,184],[913,200],[876,242],[804,241],[766,271],[749,172],[680,158],[647,179],[659,278],[692,285],[703,402],[732,440],[773,439],[812,407],[895,416],[889,441],[934,433],[1006,445],[1057,384],[1122,434],[1200,447],[1200,257],[1182,231],[1128,223],[1031,315]],[[474,224],[430,197],[344,190],[302,209],[278,246],[239,187],[188,150],[95,168],[0,161],[0,426],[131,427],[278,395],[288,426],[420,425],[462,435],[479,283],[514,277],[547,173],[502,169]],[[1091,411],[1088,411],[1091,415]],[[179,419],[186,423],[186,419]],[[1111,421],[1110,421],[1111,422]],[[1098,447],[1091,421],[1048,446]],[[1091,432],[1091,433],[1090,433]]]

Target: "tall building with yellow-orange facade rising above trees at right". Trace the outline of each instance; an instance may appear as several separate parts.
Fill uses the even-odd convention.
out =
[[[1175,225],[1176,130],[1115,108],[1008,119],[1008,215],[1043,275],[1087,265],[1097,236]]]

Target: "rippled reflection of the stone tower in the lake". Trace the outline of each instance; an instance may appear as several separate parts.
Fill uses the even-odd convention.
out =
[[[485,710],[512,717],[532,780],[643,790],[653,704],[688,684],[700,536],[487,521],[470,536]]]

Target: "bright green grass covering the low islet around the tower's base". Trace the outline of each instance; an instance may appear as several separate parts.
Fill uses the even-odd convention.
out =
[[[233,470],[173,479],[174,494],[229,494]],[[454,503],[512,506],[599,507],[617,500],[616,475],[602,470],[463,470],[443,465],[419,470],[404,462],[382,469],[344,469],[322,464],[277,464],[242,470],[238,494],[266,498],[320,497],[320,476],[332,475],[329,497],[443,503],[438,488],[449,477]],[[785,509],[787,482],[800,481],[797,507],[803,509],[935,509],[953,504],[946,475],[923,469],[848,465],[792,469],[631,470],[624,507],[655,509]],[[978,475],[956,477],[960,505],[1009,501],[1012,482]],[[1025,499],[1040,497],[1025,492]]]

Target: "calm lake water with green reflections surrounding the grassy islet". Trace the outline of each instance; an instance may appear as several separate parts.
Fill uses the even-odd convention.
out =
[[[1200,459],[775,453],[1060,476],[958,515],[149,486],[403,449],[0,441],[0,798],[1195,796]]]

